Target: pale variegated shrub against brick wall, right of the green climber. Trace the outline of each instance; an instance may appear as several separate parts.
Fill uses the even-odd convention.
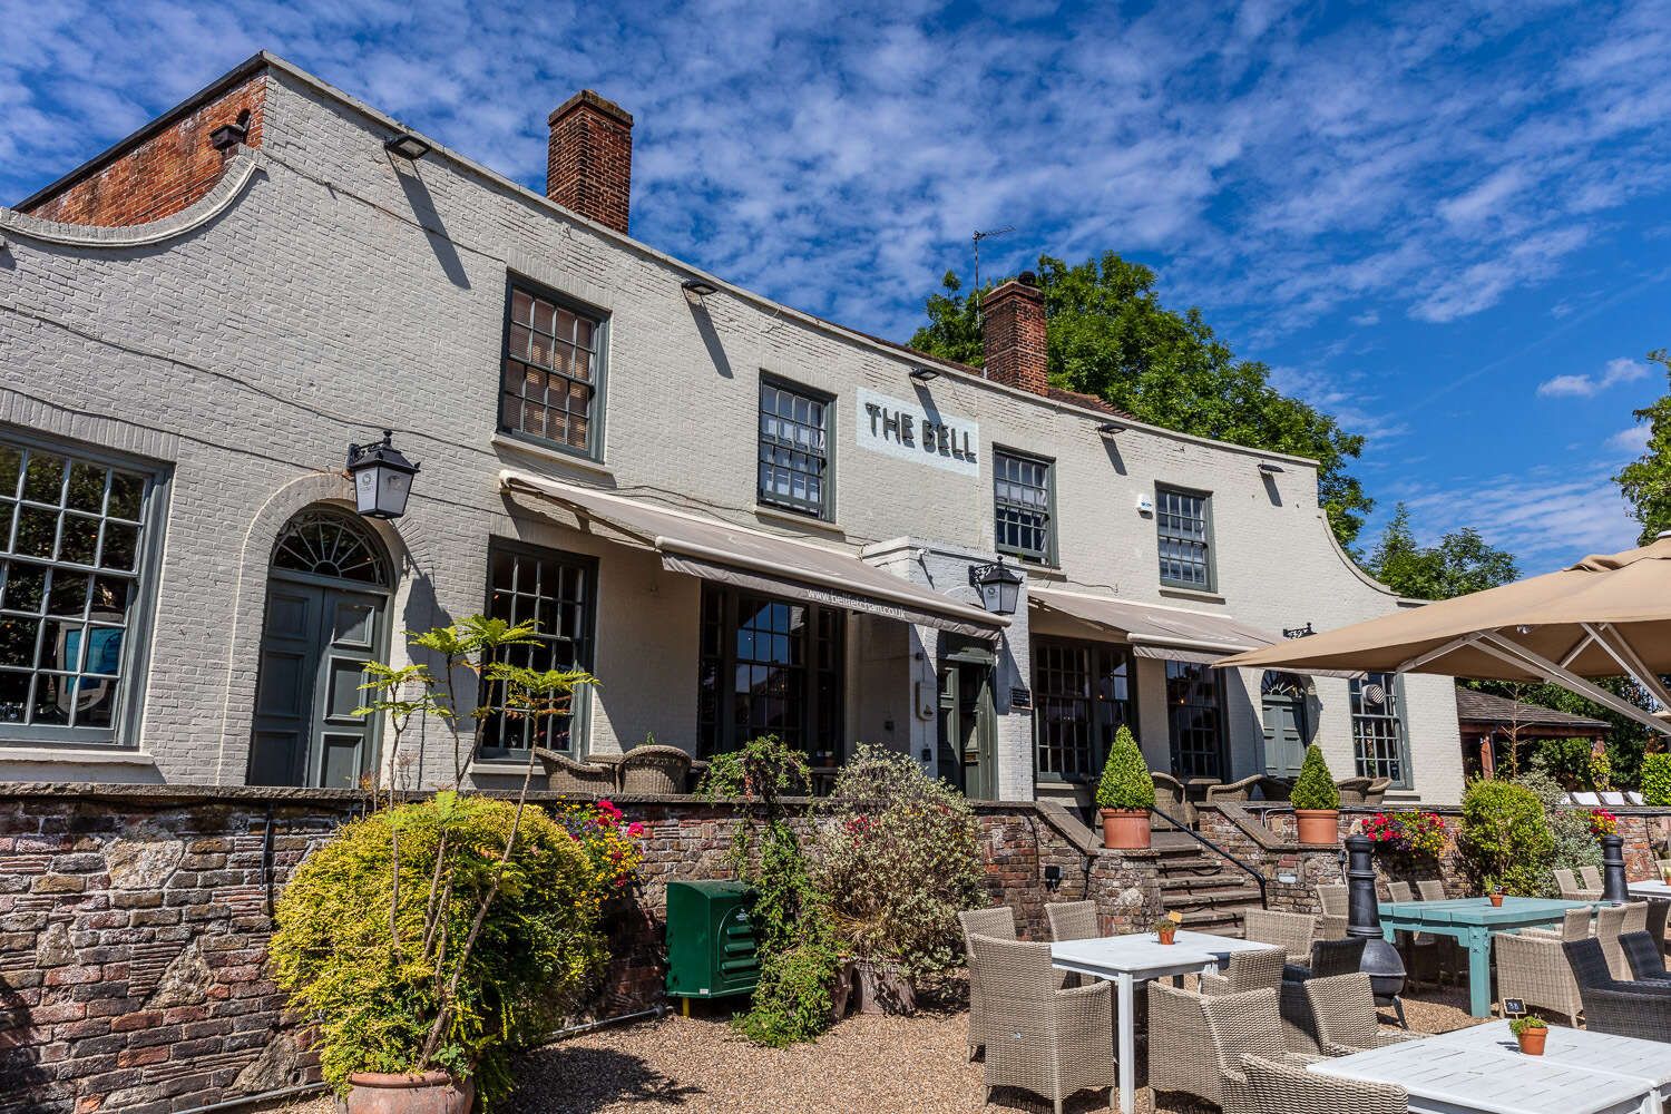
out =
[[[842,945],[919,989],[957,970],[957,914],[986,905],[979,825],[962,793],[866,743],[817,817],[814,879]]]

